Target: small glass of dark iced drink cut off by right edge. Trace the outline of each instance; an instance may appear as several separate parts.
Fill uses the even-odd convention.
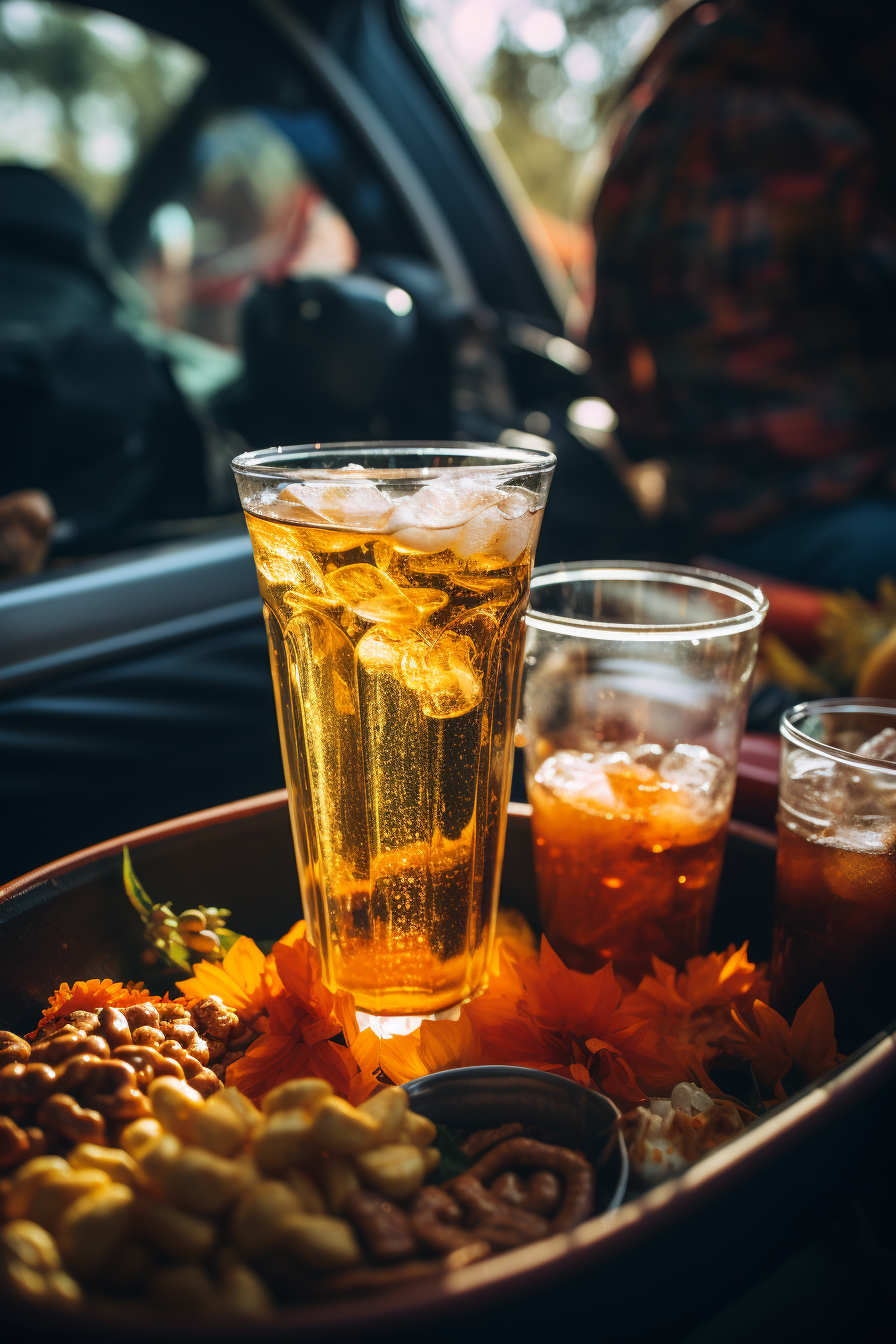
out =
[[[771,1003],[817,984],[850,1050],[896,1016],[896,706],[814,700],[780,720]]]

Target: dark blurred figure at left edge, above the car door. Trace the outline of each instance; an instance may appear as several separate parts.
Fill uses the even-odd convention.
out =
[[[51,539],[90,554],[206,509],[200,426],[168,360],[122,329],[110,270],[69,187],[0,165],[0,574],[39,570]]]

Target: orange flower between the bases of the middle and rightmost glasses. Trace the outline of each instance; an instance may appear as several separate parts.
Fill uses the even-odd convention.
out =
[[[622,1008],[650,1024],[681,1047],[695,1046],[707,1062],[723,1054],[740,1058],[740,1038],[731,1024],[731,1008],[751,1016],[754,1000],[768,997],[762,966],[747,957],[747,943],[727,952],[690,957],[676,972],[653,957],[653,976],[645,976],[622,1000]]]

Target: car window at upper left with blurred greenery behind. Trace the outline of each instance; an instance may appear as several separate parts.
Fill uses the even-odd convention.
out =
[[[145,314],[222,347],[258,280],[355,267],[328,173],[368,247],[395,235],[329,113],[304,89],[274,102],[277,81],[232,63],[102,9],[0,3],[0,161],[60,176],[107,224]]]

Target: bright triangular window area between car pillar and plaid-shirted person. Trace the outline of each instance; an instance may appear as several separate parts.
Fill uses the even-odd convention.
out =
[[[673,0],[673,4],[676,0]],[[681,7],[681,5],[678,5]],[[657,35],[657,0],[404,0],[423,54],[536,253],[570,277],[567,325],[592,298],[588,227],[615,89]]]

